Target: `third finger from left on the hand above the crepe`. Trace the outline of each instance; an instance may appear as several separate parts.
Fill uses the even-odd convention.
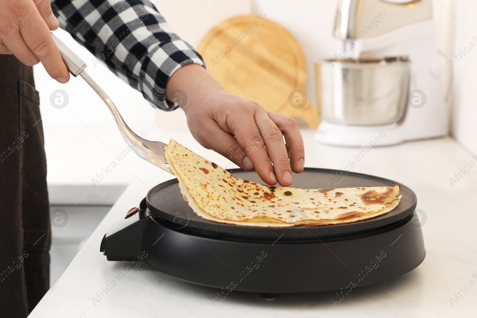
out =
[[[279,117],[276,118],[275,121],[285,116],[281,114],[277,115],[279,115]],[[255,114],[255,122],[265,142],[267,154],[273,163],[273,170],[277,176],[278,183],[283,186],[289,186],[291,184],[291,168],[282,132],[274,121],[270,119],[266,111],[258,111]],[[258,171],[257,167],[256,169]]]

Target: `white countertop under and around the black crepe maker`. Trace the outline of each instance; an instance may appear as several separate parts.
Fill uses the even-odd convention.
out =
[[[344,168],[361,150],[316,144],[311,131],[303,133],[306,166]],[[177,140],[193,144],[187,135],[182,137]],[[210,159],[219,162],[214,154]],[[423,226],[427,255],[411,272],[357,288],[335,307],[333,292],[285,294],[274,300],[234,292],[214,307],[215,288],[168,277],[143,263],[94,305],[92,297],[112,280],[118,281],[115,275],[131,265],[107,261],[99,247],[109,226],[137,206],[154,185],[138,181],[124,191],[29,317],[476,317],[477,287],[468,284],[471,280],[477,284],[477,196],[471,188],[477,184],[477,168],[461,173],[454,185],[449,181],[470,161],[477,163],[455,140],[445,138],[379,147],[357,163],[353,171],[394,179],[415,191],[417,208],[427,218]],[[154,182],[170,178],[160,174]],[[470,290],[457,299],[454,293],[459,288]],[[457,302],[451,304],[449,297]]]

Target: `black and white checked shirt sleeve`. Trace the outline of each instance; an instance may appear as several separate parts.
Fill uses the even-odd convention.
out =
[[[105,62],[119,78],[153,105],[173,110],[166,100],[169,77],[181,66],[205,67],[148,0],[51,0],[60,27]]]

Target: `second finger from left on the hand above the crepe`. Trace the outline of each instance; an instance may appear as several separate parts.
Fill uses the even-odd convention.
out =
[[[260,178],[269,185],[276,185],[277,177],[253,116],[253,113],[238,113],[235,118],[236,124],[232,126],[232,133],[242,148],[247,150],[250,162]]]

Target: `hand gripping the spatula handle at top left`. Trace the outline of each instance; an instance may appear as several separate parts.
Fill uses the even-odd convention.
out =
[[[0,54],[14,54],[28,66],[41,62],[52,78],[66,83],[70,74],[50,33],[59,25],[49,0],[1,0]]]

